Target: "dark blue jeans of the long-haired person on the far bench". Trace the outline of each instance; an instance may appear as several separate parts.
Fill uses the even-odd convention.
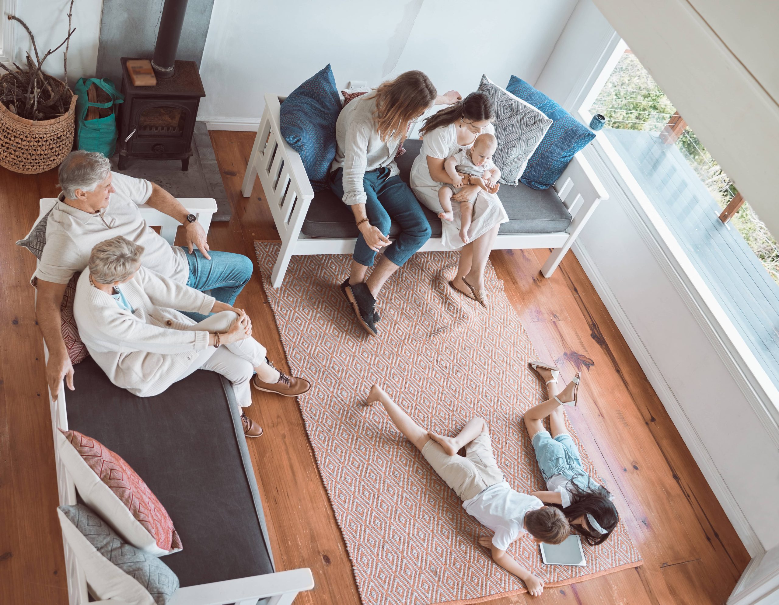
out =
[[[344,169],[330,173],[330,188],[338,199],[344,198]],[[390,234],[390,224],[394,220],[400,225],[400,233],[392,244],[387,246],[383,254],[386,259],[402,267],[430,239],[430,223],[428,223],[422,207],[411,188],[400,180],[399,175],[390,177],[390,168],[366,172],[362,178],[365,188],[365,213],[373,227],[378,227],[382,234]],[[376,253],[365,244],[362,234],[354,244],[354,261],[367,267],[373,266]]]

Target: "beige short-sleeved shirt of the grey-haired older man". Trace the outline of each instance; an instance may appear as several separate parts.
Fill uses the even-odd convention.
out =
[[[151,195],[151,183],[118,172],[111,173],[116,191],[108,206],[90,214],[57,202],[48,217],[46,245],[35,276],[53,283],[68,283],[73,273],[83,271],[95,244],[123,235],[144,248],[141,264],[178,283],[187,283],[186,251],[171,246],[143,220],[138,206]]]

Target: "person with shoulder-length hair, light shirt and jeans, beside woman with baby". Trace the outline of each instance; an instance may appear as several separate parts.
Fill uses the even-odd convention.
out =
[[[414,120],[434,104],[452,104],[459,98],[454,90],[439,97],[422,72],[404,72],[351,100],[338,116],[330,188],[351,207],[360,231],[341,291],[371,336],[379,334],[375,326],[379,290],[431,234],[414,192],[400,180],[395,156]],[[393,220],[400,233],[390,242]],[[382,248],[382,259],[368,276],[368,267]]]

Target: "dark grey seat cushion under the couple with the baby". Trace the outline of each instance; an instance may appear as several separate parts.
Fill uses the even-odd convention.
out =
[[[397,167],[405,182],[408,182],[411,164],[421,146],[418,139],[408,139],[404,143],[406,153],[397,159]],[[499,234],[559,233],[571,223],[570,213],[552,187],[539,191],[521,183],[501,185],[498,196],[509,215],[509,222],[500,226]],[[440,237],[441,220],[424,206],[422,209],[432,228],[432,237]],[[329,189],[314,195],[301,230],[308,237],[357,237],[359,233],[349,206]],[[390,235],[399,232],[400,227],[393,221]]]

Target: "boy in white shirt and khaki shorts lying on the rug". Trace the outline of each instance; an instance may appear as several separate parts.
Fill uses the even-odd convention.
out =
[[[481,546],[492,549],[492,560],[519,577],[531,595],[544,592],[544,582],[514,561],[506,549],[525,532],[538,543],[562,543],[570,533],[568,519],[559,508],[545,506],[535,496],[520,494],[509,487],[492,455],[485,420],[473,418],[456,437],[444,437],[425,431],[381,387],[373,385],[365,403],[372,405],[377,401],[384,406],[398,431],[422,452],[433,470],[460,496],[468,514],[495,532],[492,539],[479,538]],[[457,455],[462,447],[464,457]]]

